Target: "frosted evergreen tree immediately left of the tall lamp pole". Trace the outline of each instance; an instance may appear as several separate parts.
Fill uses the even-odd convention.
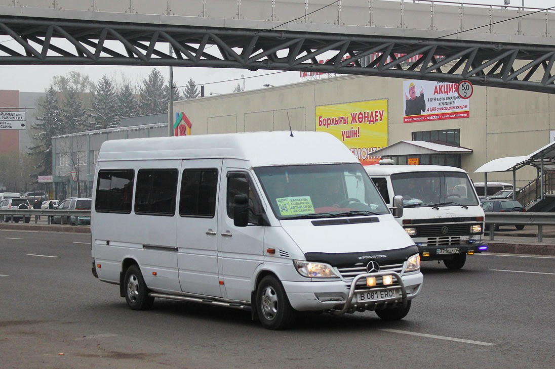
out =
[[[168,111],[169,87],[164,83],[162,73],[153,69],[139,89],[140,106],[143,114],[157,114]]]

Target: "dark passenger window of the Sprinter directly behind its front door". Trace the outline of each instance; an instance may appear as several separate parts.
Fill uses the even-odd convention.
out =
[[[214,218],[218,170],[186,169],[181,177],[179,215]]]

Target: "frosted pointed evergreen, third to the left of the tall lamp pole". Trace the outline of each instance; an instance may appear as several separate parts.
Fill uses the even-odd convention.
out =
[[[94,129],[113,128],[118,126],[118,99],[112,81],[103,75],[98,81],[93,95],[92,116]]]

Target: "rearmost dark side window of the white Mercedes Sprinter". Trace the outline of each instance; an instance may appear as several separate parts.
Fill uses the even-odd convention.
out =
[[[131,213],[133,170],[98,172],[94,209],[99,213]]]

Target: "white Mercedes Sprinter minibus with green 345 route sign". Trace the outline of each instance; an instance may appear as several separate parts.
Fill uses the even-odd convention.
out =
[[[224,305],[268,329],[298,311],[398,320],[423,280],[364,167],[324,132],[106,141],[91,233],[94,276],[133,310]]]

